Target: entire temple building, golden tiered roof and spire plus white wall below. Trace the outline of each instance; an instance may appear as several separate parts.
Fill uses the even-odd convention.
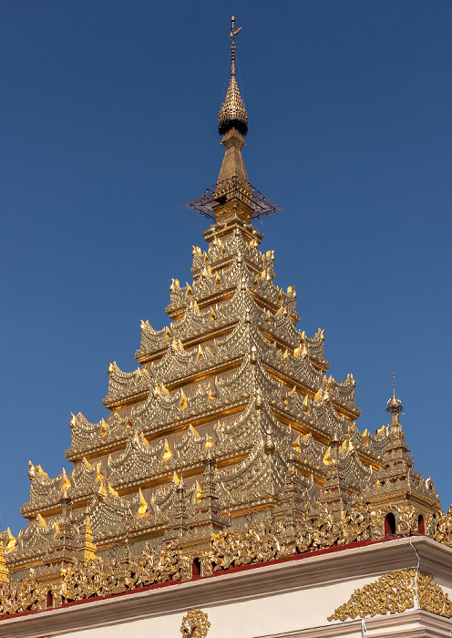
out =
[[[0,536],[5,638],[450,634],[452,514],[395,388],[390,423],[357,427],[354,377],[261,251],[253,221],[280,209],[241,156],[239,31],[192,281],[171,280],[168,326],[141,323],[137,369],[108,365],[108,418],[72,415],[70,472],[30,462],[26,527]]]

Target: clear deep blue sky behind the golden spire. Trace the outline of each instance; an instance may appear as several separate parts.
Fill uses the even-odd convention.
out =
[[[207,221],[231,14],[259,223],[299,324],[353,372],[358,427],[387,423],[395,372],[415,467],[452,499],[450,0],[4,0],[0,57],[0,515],[28,459],[70,468],[70,412],[106,416],[108,360],[168,323]]]

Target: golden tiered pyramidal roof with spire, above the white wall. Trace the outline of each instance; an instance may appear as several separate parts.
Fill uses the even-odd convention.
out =
[[[277,207],[241,157],[237,33],[219,180],[189,204],[211,217],[207,247],[192,283],[171,281],[170,324],[141,323],[137,369],[108,365],[108,418],[71,417],[71,471],[30,462],[29,522],[0,542],[0,615],[388,534],[451,544],[395,393],[391,424],[361,433],[354,377],[329,375],[324,331],[297,327],[295,290],[260,249],[252,220]]]

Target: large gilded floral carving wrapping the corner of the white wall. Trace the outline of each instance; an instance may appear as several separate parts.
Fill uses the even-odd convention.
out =
[[[437,582],[424,571],[391,571],[355,590],[350,600],[338,607],[328,620],[365,618],[377,614],[401,613],[416,605],[426,612],[452,617],[452,602]]]

